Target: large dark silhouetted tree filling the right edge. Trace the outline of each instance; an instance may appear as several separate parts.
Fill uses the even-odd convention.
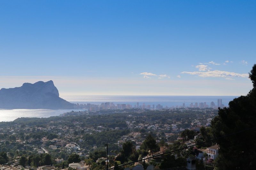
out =
[[[212,120],[212,133],[215,138],[255,128],[256,122],[256,65],[249,77],[253,89],[246,95],[229,102],[229,107],[219,108],[218,116]],[[256,166],[255,129],[223,137],[217,140],[219,156],[217,166],[226,169],[254,169]]]

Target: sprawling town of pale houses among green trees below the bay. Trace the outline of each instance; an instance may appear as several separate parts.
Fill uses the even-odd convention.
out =
[[[72,111],[51,119],[20,118],[13,122],[2,122],[0,147],[1,151],[6,153],[8,161],[5,163],[8,166],[3,164],[1,168],[3,170],[6,168],[61,169],[62,167],[93,169],[86,164],[86,160],[90,159],[93,159],[94,163],[99,161],[104,161],[106,165],[109,163],[110,168],[115,166],[113,163],[115,160],[119,165],[124,163],[118,160],[123,145],[129,142],[134,147],[132,152],[138,154],[130,160],[144,160],[145,165],[160,164],[162,156],[157,155],[177,147],[184,147],[184,152],[197,153],[195,158],[198,159],[198,164],[202,161],[201,164],[212,165],[218,156],[219,146],[213,143],[204,146],[197,144],[205,138],[200,133],[200,129],[205,131],[210,126],[217,111],[214,108],[133,109],[132,111],[126,109],[114,113],[110,110]],[[8,123],[9,126],[6,126]],[[109,135],[111,139],[105,135]],[[152,137],[157,145],[151,149],[152,151],[145,146],[148,136]],[[108,144],[108,151],[104,144]],[[189,149],[190,147],[196,148],[196,152]],[[100,154],[95,156],[95,152]],[[52,161],[49,161],[51,164],[43,165],[42,160],[40,163],[30,160],[31,163],[28,163],[29,157],[37,154],[51,155]],[[24,155],[27,155],[27,161],[21,163],[21,157]],[[80,161],[68,162],[70,155],[77,155]],[[190,154],[173,153],[172,155],[185,160]],[[31,159],[35,158],[31,157]]]

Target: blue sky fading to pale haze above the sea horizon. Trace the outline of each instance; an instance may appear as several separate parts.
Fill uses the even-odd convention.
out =
[[[0,88],[61,95],[246,95],[256,1],[1,0]]]

